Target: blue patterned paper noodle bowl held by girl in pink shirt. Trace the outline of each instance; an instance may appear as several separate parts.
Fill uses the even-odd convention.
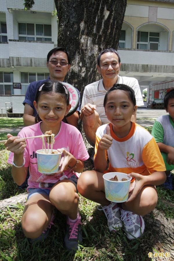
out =
[[[48,150],[46,150],[48,151]],[[57,150],[52,150],[57,151]],[[59,163],[61,160],[61,152],[55,153],[55,154],[49,154],[51,153],[51,149],[49,149],[48,154],[45,153],[45,150],[37,150],[37,169],[40,173],[43,175],[50,175],[52,173],[55,173],[59,169]]]

